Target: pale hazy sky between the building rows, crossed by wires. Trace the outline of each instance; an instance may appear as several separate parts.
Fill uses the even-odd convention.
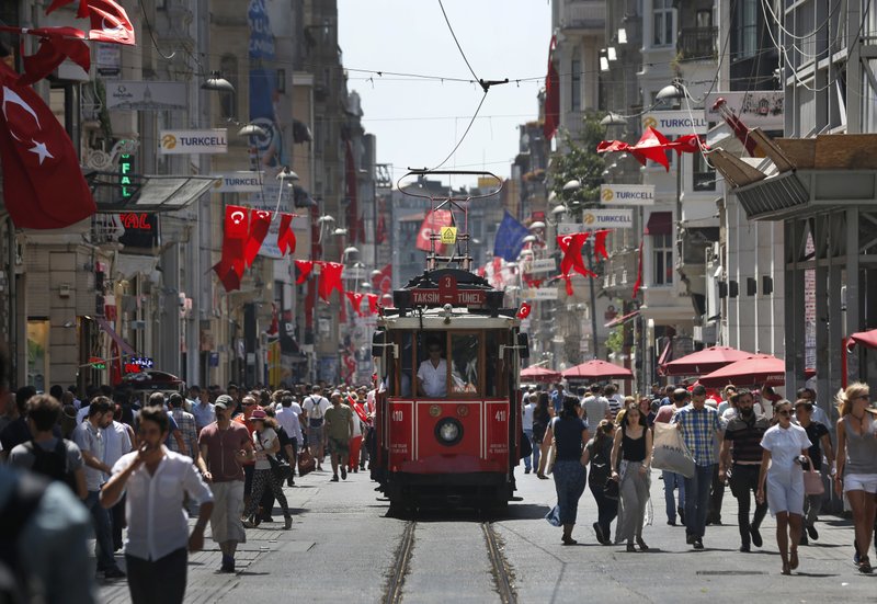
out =
[[[475,73],[509,78],[491,88],[479,117],[445,169],[487,169],[508,176],[517,126],[537,117],[550,39],[547,0],[443,0]],[[363,123],[377,138],[377,161],[433,168],[463,136],[483,96],[468,82],[365,73],[354,69],[472,79],[437,0],[338,0],[339,44]],[[515,82],[527,79],[528,81]],[[535,80],[534,80],[535,79]],[[466,184],[456,181],[454,184]]]

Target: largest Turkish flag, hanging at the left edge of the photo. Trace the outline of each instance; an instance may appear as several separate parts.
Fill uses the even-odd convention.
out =
[[[19,73],[0,64],[3,197],[19,228],[68,227],[94,214],[79,157],[61,124]]]

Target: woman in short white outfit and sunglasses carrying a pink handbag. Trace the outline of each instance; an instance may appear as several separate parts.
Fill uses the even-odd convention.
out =
[[[763,449],[759,490],[755,500],[764,502],[767,483],[767,508],[776,518],[776,545],[783,559],[783,574],[798,568],[798,543],[804,526],[804,470],[801,459],[810,464],[812,446],[807,432],[791,423],[791,403],[781,400],[774,404],[776,424],[761,440]]]

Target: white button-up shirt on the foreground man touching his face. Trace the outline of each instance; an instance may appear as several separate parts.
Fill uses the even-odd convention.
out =
[[[137,452],[123,455],[113,466],[113,474],[127,468]],[[164,458],[149,475],[146,464],[134,470],[125,492],[125,517],[128,521],[128,539],[125,554],[143,560],[158,560],[189,544],[189,514],[183,506],[183,495],[198,503],[213,501],[213,493],[192,459],[164,447]]]

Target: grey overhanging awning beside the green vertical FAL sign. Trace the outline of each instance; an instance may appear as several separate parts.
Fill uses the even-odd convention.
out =
[[[86,174],[98,212],[161,213],[184,209],[208,192],[218,180],[200,175]]]

